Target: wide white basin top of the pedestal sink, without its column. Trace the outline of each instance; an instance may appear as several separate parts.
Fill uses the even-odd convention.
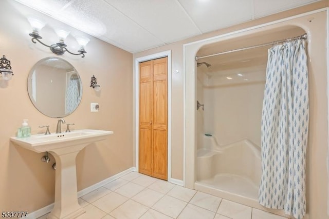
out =
[[[82,129],[60,134],[34,134],[30,137],[11,137],[10,140],[17,145],[38,153],[53,151],[80,144],[90,144],[104,140],[113,131]]]

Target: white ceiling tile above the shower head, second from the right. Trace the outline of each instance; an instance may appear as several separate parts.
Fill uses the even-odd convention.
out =
[[[178,1],[203,33],[252,19],[253,5],[251,0]]]

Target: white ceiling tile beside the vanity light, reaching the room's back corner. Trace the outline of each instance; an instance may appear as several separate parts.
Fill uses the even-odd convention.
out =
[[[129,52],[163,45],[153,34],[102,0],[75,1],[55,18],[100,39],[109,39]]]

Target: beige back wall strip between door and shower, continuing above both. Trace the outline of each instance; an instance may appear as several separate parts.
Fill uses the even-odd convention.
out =
[[[256,19],[251,22],[246,22],[241,25],[231,26],[222,30],[210,32],[203,34],[202,36],[196,36],[184,41],[179,41],[176,43],[168,44],[165,46],[157,47],[154,49],[134,53],[134,60],[138,57],[143,57],[151,54],[155,54],[162,51],[171,50],[172,52],[172,142],[171,142],[171,168],[172,168],[172,178],[176,178],[178,180],[183,180],[183,158],[184,158],[184,78],[183,78],[183,45],[191,42],[198,41],[200,39],[209,38],[212,36],[221,35],[224,33],[233,32],[236,30],[241,30],[244,28],[268,23],[271,21],[276,21],[278,19],[289,17],[293,15],[297,15],[300,13],[316,10],[319,8],[324,8],[328,6],[327,0],[320,1],[314,4],[310,4],[304,7],[300,7],[293,10],[288,10],[282,13],[278,13],[271,16],[266,16],[263,18]],[[182,30],[184,31],[184,30]],[[178,70],[179,73],[175,71]],[[135,73],[135,69],[134,69]],[[189,72],[186,72],[186,76],[189,76]],[[134,75],[135,77],[135,75]],[[135,80],[135,78],[134,78]],[[135,87],[134,87],[135,89]],[[134,100],[135,101],[135,100]],[[135,121],[135,117],[134,117]],[[134,130],[134,139],[135,130]],[[187,147],[192,147],[187,145]],[[135,157],[134,157],[135,162]]]

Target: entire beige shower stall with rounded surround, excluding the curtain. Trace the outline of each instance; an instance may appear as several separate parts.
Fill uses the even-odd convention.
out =
[[[325,29],[326,12],[322,11],[185,45],[186,187],[287,216],[283,210],[264,208],[258,202],[267,50],[277,41],[307,34],[312,128],[308,133],[306,163],[313,161],[313,165],[306,166],[306,199],[322,195],[316,194],[314,181],[310,179],[318,176],[315,166],[326,166],[327,150],[322,148],[319,153],[314,149],[318,141],[327,145],[327,124],[316,122],[320,114],[327,116],[326,110],[321,109],[324,105],[320,107],[316,101],[316,96],[327,101],[318,87],[320,83],[326,90],[326,76],[315,73],[326,70]],[[263,44],[268,45],[257,46]],[[212,55],[217,53],[220,55]],[[316,127],[324,130],[321,136],[314,132]],[[326,176],[323,181],[326,182]],[[325,183],[322,189],[326,191]],[[322,209],[326,208],[325,203],[323,196]],[[318,209],[318,204],[308,202],[308,209]]]

